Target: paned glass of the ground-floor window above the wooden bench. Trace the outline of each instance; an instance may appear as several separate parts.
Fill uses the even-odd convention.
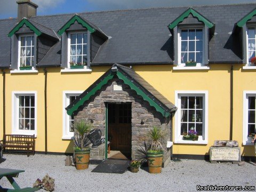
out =
[[[35,96],[18,96],[19,130],[35,130]]]

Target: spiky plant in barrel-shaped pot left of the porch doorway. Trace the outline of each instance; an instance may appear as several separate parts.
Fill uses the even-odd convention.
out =
[[[92,124],[80,121],[75,123],[75,159],[76,169],[84,170],[87,169],[90,162],[90,148],[87,147],[90,144],[87,134],[91,131]]]

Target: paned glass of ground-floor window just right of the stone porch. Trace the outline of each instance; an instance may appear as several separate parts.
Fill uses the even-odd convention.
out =
[[[195,130],[203,135],[203,97],[181,97],[180,134]]]

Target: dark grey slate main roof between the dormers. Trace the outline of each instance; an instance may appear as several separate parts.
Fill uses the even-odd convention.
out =
[[[256,4],[194,6],[193,8],[215,24],[215,33],[209,42],[209,62],[242,63],[240,39],[231,35],[237,21],[252,11]],[[167,28],[188,7],[121,10],[78,13],[81,17],[111,36],[98,51],[93,65],[113,63],[172,63],[173,41]],[[30,18],[47,28],[58,31],[73,14],[37,16]],[[0,20],[0,67],[10,65],[9,31],[16,19]],[[54,58],[54,53],[45,57]],[[59,59],[49,60],[58,66]]]

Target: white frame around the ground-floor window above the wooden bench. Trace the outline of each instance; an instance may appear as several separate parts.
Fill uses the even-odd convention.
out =
[[[35,97],[35,130],[19,130],[19,96]],[[12,91],[12,134],[37,136],[37,91]]]

